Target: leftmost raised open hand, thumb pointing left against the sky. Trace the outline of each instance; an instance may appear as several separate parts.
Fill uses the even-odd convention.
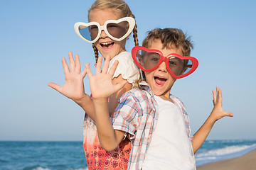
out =
[[[64,86],[59,86],[55,83],[49,83],[48,86],[78,103],[82,100],[82,98],[85,98],[83,79],[85,78],[86,70],[84,69],[80,73],[81,66],[78,55],[75,55],[74,60],[72,52],[69,52],[68,58],[70,62],[70,68],[68,67],[65,57],[63,57],[61,60],[65,74]]]

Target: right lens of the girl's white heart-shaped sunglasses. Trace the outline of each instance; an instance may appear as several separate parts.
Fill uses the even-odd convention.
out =
[[[120,23],[108,23],[107,31],[114,38],[122,38],[127,33],[129,29],[129,23],[127,21],[122,21]]]

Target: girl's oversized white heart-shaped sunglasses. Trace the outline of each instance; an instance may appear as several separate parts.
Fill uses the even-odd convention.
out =
[[[89,43],[94,43],[100,38],[102,30],[112,39],[116,41],[124,40],[132,33],[135,26],[135,20],[132,17],[124,17],[119,20],[107,20],[103,26],[100,23],[75,23],[75,33],[78,34],[82,40]]]

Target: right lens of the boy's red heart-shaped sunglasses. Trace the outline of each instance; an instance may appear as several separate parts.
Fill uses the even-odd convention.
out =
[[[176,76],[181,76],[189,72],[192,67],[191,60],[181,60],[178,57],[169,58],[169,68]]]

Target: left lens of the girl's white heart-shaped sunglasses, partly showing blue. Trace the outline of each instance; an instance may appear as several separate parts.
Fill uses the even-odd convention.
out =
[[[89,27],[79,26],[79,33],[86,40],[90,40],[90,41],[95,40],[95,38],[97,37],[98,31],[99,31],[99,28],[96,25],[92,25]]]

